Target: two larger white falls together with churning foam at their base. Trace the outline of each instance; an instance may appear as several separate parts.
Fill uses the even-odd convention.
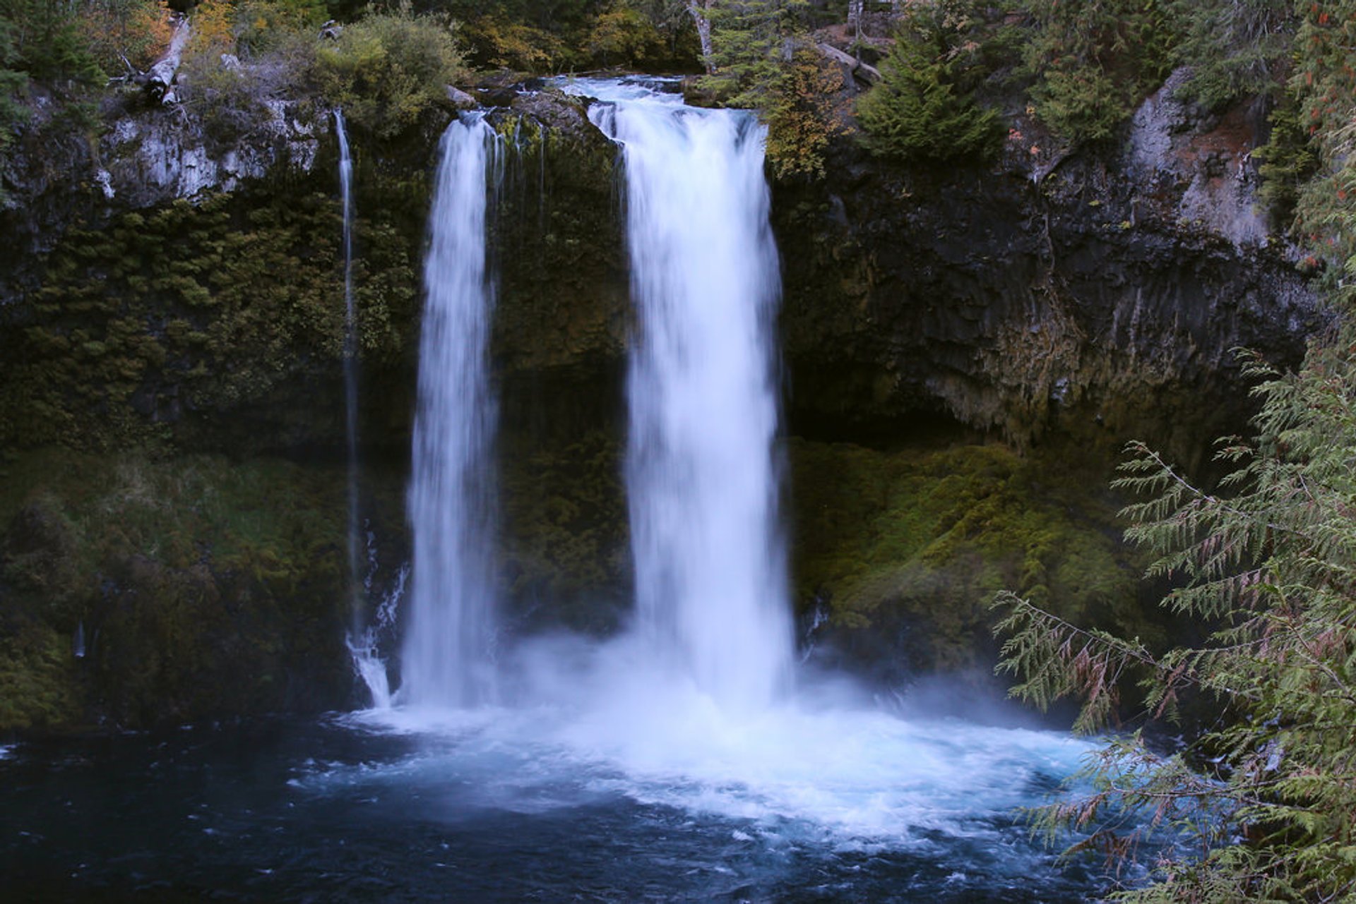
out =
[[[449,777],[472,809],[675,808],[709,823],[721,858],[731,842],[769,862],[845,851],[849,870],[852,851],[928,859],[978,844],[1002,851],[983,869],[1022,876],[1044,854],[1005,815],[1077,768],[1085,743],[926,707],[902,718],[852,680],[793,661],[773,455],[778,276],[759,126],[644,85],[567,89],[599,99],[590,118],[625,155],[639,312],[626,473],[636,630],[518,638],[495,661],[488,652],[483,234],[495,145],[483,123],[454,125],[434,201],[410,493],[415,611],[397,697],[414,706],[355,717],[439,740],[389,770],[340,770],[335,786],[412,783],[433,819],[458,806]],[[509,705],[471,706],[483,701]],[[960,870],[953,880],[970,888]]]

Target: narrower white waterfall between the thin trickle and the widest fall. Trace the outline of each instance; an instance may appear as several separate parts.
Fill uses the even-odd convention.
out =
[[[408,499],[415,549],[401,698],[414,705],[494,697],[495,400],[487,344],[495,293],[485,211],[499,150],[483,117],[465,114],[443,133],[435,178]]]

